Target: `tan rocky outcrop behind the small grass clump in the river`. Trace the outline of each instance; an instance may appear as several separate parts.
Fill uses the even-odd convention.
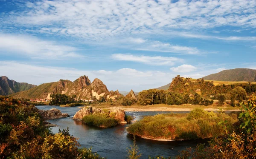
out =
[[[108,114],[114,114],[114,116],[111,116],[119,121],[119,124],[126,124],[125,121],[125,111],[120,108],[111,108],[110,111],[102,110],[100,108],[94,108],[94,107],[86,107],[82,108],[76,114],[73,116],[73,119],[82,119],[86,115],[95,114],[95,113],[108,113]]]

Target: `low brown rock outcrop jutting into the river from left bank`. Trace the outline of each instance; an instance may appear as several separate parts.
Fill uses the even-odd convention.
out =
[[[48,111],[38,109],[38,113],[41,114],[44,119],[59,119],[69,117],[67,113],[61,113],[61,111],[56,108],[52,108]]]

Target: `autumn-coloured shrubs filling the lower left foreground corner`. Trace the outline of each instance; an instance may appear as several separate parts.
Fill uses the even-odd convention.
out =
[[[52,134],[38,109],[25,100],[0,97],[0,158],[99,159],[91,149],[79,149],[68,129]]]

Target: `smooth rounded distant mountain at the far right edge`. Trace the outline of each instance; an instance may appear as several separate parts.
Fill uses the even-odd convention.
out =
[[[231,70],[224,70],[217,74],[210,74],[203,78],[204,80],[216,80],[216,81],[256,82],[256,70],[249,69],[249,68],[235,68]]]

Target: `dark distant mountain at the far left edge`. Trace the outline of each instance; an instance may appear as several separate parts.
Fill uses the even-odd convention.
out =
[[[26,91],[35,86],[36,85],[31,85],[23,82],[19,83],[15,80],[9,80],[9,78],[6,76],[0,77],[0,95],[2,96],[8,96],[19,91]]]

